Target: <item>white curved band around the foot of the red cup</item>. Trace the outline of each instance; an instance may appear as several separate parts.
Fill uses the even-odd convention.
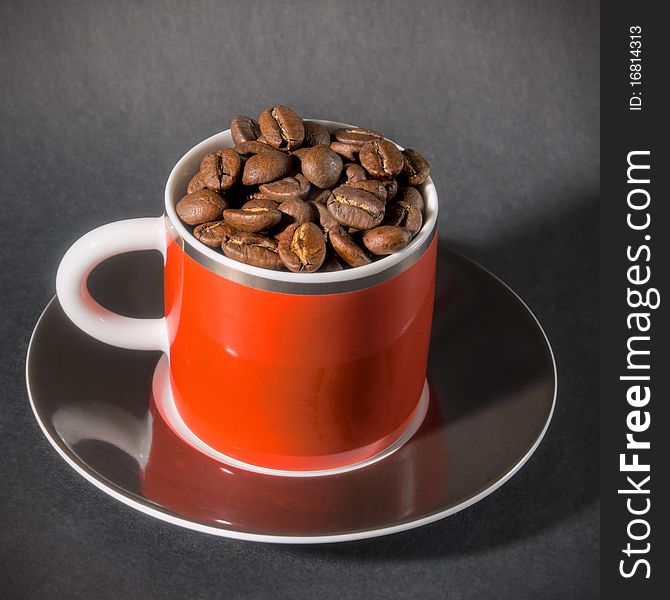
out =
[[[259,465],[254,465],[251,463],[244,462],[242,460],[233,458],[232,456],[227,456],[223,452],[212,448],[209,444],[201,440],[188,425],[184,422],[182,416],[179,414],[177,405],[174,400],[174,395],[172,394],[172,389],[169,383],[169,372],[167,370],[167,365],[169,364],[168,357],[163,354],[158,359],[156,367],[151,378],[151,389],[153,392],[154,403],[156,408],[160,413],[165,424],[168,428],[180,438],[185,444],[201,452],[205,456],[212,458],[221,464],[234,467],[236,469],[244,469],[251,473],[259,473],[260,475],[268,475],[271,477],[331,477],[333,475],[341,475],[343,473],[350,473],[351,471],[356,471],[358,469],[364,469],[380,460],[388,458],[394,452],[397,452],[402,448],[409,440],[412,439],[414,434],[421,427],[426,414],[428,413],[428,406],[430,405],[430,389],[428,386],[428,380],[424,380],[423,388],[421,388],[421,394],[419,395],[419,400],[414,407],[410,417],[411,421],[407,427],[400,433],[400,435],[395,438],[388,446],[380,450],[379,452],[372,455],[370,458],[361,460],[359,462],[345,465],[342,467],[336,467],[332,469],[321,469],[321,470],[311,470],[311,471],[297,471],[297,470],[288,470],[288,469],[272,469],[269,467],[261,467]],[[159,381],[161,380],[162,381]],[[161,393],[161,386],[163,388]]]

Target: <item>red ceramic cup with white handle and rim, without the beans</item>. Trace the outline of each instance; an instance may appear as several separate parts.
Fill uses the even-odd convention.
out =
[[[175,212],[201,158],[232,145],[227,130],[179,160],[163,216],[110,223],[75,242],[58,269],[58,299],[103,342],[165,352],[181,419],[239,464],[285,472],[363,464],[416,427],[427,394],[435,186],[420,186],[424,226],[402,251],[337,272],[271,271],[208,248]],[[164,257],[165,317],[118,315],[91,297],[96,265],[149,249]]]

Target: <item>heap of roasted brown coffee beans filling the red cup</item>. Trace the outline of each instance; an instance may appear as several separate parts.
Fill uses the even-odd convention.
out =
[[[235,146],[205,156],[176,206],[227,257],[300,273],[367,265],[423,225],[428,161],[378,131],[330,133],[288,106],[236,116]]]

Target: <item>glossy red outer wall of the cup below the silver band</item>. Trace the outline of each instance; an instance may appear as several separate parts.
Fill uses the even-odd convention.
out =
[[[185,423],[216,450],[277,469],[382,450],[423,387],[436,247],[377,286],[306,296],[231,282],[170,239],[171,382]]]

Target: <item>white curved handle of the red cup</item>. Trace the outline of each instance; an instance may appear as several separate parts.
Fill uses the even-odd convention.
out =
[[[136,250],[165,250],[163,217],[128,219],[98,227],[65,253],[56,275],[56,292],[65,314],[90,336],[119,348],[162,350],[168,341],[165,317],[134,319],[100,306],[88,291],[88,276],[104,260]]]

